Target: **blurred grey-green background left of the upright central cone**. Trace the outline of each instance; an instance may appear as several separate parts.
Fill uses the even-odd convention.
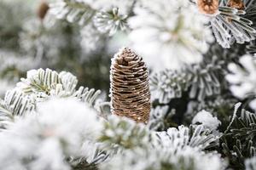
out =
[[[25,77],[26,71],[38,68],[70,71],[79,85],[108,93],[110,59],[125,42],[124,34],[110,38],[92,26],[83,29],[55,19],[48,14],[49,3],[0,1],[0,95]]]

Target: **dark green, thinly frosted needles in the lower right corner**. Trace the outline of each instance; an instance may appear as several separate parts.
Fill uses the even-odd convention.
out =
[[[254,113],[241,109],[236,105],[230,126],[220,139],[221,152],[230,160],[230,167],[244,169],[246,158],[256,156],[256,116]]]

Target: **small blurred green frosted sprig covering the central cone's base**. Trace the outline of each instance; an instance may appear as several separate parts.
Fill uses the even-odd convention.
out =
[[[126,117],[110,116],[99,141],[110,150],[133,150],[148,147],[149,134],[148,128],[141,123],[137,124]]]

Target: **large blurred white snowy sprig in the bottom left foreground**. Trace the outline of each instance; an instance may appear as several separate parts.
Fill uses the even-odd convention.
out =
[[[0,167],[69,169],[68,157],[97,154],[93,144],[101,131],[102,122],[89,106],[77,99],[51,99],[38,104],[35,114],[20,118],[0,133],[5,153]]]

